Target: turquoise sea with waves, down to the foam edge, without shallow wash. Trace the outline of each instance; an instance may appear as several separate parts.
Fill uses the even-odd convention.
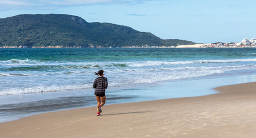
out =
[[[256,48],[0,49],[0,95],[88,89],[94,71],[110,86],[254,70]]]

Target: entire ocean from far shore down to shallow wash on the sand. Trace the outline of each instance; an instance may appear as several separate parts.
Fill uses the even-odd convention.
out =
[[[1,48],[0,121],[94,105],[98,70],[109,104],[192,97],[255,81],[256,48]]]

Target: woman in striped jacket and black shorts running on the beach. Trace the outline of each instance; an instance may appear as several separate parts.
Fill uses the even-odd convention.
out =
[[[94,89],[95,89],[95,97],[97,99],[97,116],[101,116],[101,107],[105,105],[106,102],[106,95],[105,95],[105,90],[107,89],[107,78],[104,77],[104,71],[99,70],[98,73],[95,72],[95,75],[98,75],[99,77],[95,79],[94,81]]]

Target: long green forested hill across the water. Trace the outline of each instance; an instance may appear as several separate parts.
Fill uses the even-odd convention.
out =
[[[162,40],[152,33],[128,26],[86,22],[66,14],[23,14],[0,19],[0,47],[124,47],[132,45],[170,46],[191,41]]]

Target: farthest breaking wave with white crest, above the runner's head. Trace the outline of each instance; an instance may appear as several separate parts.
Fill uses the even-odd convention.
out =
[[[256,62],[254,59],[225,59],[225,60],[169,60],[169,61],[143,61],[143,62],[57,62],[44,60],[20,60],[11,59],[0,61],[0,67],[12,68],[13,70],[29,70],[24,67],[34,67],[33,69],[70,69],[70,68],[127,68],[127,67],[149,67],[149,66],[168,66],[184,64],[210,64],[210,63],[235,63],[235,62]],[[14,68],[13,68],[14,67]]]

